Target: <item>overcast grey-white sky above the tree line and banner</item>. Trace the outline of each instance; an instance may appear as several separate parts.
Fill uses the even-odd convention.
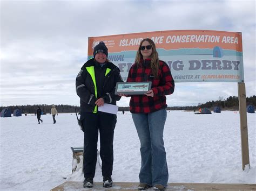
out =
[[[166,30],[242,32],[246,96],[255,90],[255,1],[0,0],[0,105],[79,105],[88,37]],[[176,83],[169,106],[238,96],[237,83]],[[122,98],[119,106],[128,106]]]

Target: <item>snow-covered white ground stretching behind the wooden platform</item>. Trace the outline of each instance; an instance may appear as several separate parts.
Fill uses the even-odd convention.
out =
[[[250,165],[242,171],[239,113],[194,115],[167,111],[164,130],[169,182],[256,183],[255,114],[247,114]],[[75,114],[0,118],[0,190],[50,190],[83,181],[72,172],[71,146],[83,146]],[[138,182],[139,139],[130,112],[118,113],[114,132],[116,182]],[[66,178],[66,179],[63,179]],[[95,181],[102,181],[99,169]]]

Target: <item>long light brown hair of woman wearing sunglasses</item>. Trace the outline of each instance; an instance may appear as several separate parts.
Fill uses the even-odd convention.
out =
[[[140,44],[139,44],[139,49],[137,51],[137,54],[136,54],[136,58],[135,58],[135,61],[134,63],[137,63],[137,66],[139,66],[139,62],[140,62],[140,59],[143,58],[143,55],[142,53],[140,52],[140,46],[142,46],[142,43],[144,41],[148,41],[149,44],[152,46],[152,54],[151,54],[151,62],[150,62],[150,66],[152,68],[152,73],[154,75],[154,77],[157,78],[157,75],[158,75],[158,69],[159,69],[159,59],[158,59],[158,53],[157,53],[157,49],[156,49],[156,45],[154,44],[154,41],[149,39],[149,38],[145,38],[143,39]]]

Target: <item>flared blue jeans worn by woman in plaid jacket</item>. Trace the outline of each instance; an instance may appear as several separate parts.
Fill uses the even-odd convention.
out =
[[[139,136],[142,157],[139,182],[167,187],[169,174],[163,140],[166,109],[149,114],[132,114],[132,119]]]

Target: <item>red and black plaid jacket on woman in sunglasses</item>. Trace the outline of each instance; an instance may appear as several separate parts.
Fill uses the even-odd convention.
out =
[[[167,107],[165,95],[174,91],[174,80],[169,66],[159,60],[157,78],[153,76],[150,66],[150,59],[141,60],[139,67],[134,63],[129,70],[127,82],[151,81],[151,89],[154,96],[132,95],[130,100],[130,111],[132,113],[149,113]]]

